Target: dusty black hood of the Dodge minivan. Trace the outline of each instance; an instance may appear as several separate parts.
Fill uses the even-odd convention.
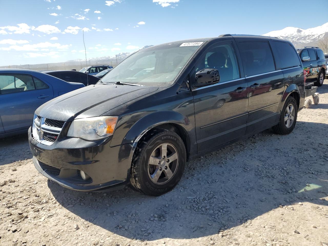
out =
[[[100,116],[117,106],[154,92],[158,88],[130,85],[90,85],[46,102],[35,113],[41,117],[68,122],[75,118]]]

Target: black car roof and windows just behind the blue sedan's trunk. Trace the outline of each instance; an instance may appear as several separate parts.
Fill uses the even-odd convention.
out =
[[[44,73],[65,80],[67,82],[82,83],[85,86],[94,85],[99,81],[99,79],[93,75],[73,70],[45,71]]]

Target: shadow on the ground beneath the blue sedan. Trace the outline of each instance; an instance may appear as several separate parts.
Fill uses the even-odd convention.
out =
[[[0,139],[0,166],[31,159],[27,133]]]

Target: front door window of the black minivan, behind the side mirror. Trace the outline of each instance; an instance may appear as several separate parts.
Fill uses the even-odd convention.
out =
[[[220,75],[220,82],[240,78],[236,52],[231,43],[213,47],[204,53],[191,75],[190,80],[192,84],[195,83],[196,72],[205,68],[217,69]]]

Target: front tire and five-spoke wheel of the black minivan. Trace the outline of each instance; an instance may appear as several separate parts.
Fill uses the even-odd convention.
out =
[[[165,146],[166,154],[162,153]],[[185,163],[186,148],[179,135],[165,129],[155,130],[136,148],[130,183],[146,195],[165,194],[180,181]]]

